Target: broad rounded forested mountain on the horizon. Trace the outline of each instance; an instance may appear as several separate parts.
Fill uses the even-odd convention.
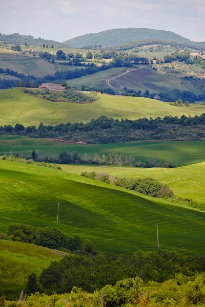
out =
[[[102,45],[108,47],[145,39],[159,39],[177,43],[185,43],[188,45],[193,43],[190,39],[182,37],[171,31],[146,28],[107,30],[99,33],[81,35],[66,40],[63,43],[74,48],[93,47],[95,44],[97,46]],[[205,46],[205,42],[201,42],[201,46],[203,46],[203,44]]]

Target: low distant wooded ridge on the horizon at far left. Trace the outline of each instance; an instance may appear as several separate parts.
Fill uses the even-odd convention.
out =
[[[43,45],[45,43],[45,45],[53,45],[54,47],[59,47],[59,46],[63,46],[64,44],[61,42],[57,42],[54,40],[47,40],[44,38],[34,38],[31,35],[20,35],[18,33],[13,33],[13,34],[2,34],[0,33],[0,42],[3,43],[9,43],[9,44],[19,44],[22,45],[25,43],[27,43],[27,45],[30,46],[40,46]]]

